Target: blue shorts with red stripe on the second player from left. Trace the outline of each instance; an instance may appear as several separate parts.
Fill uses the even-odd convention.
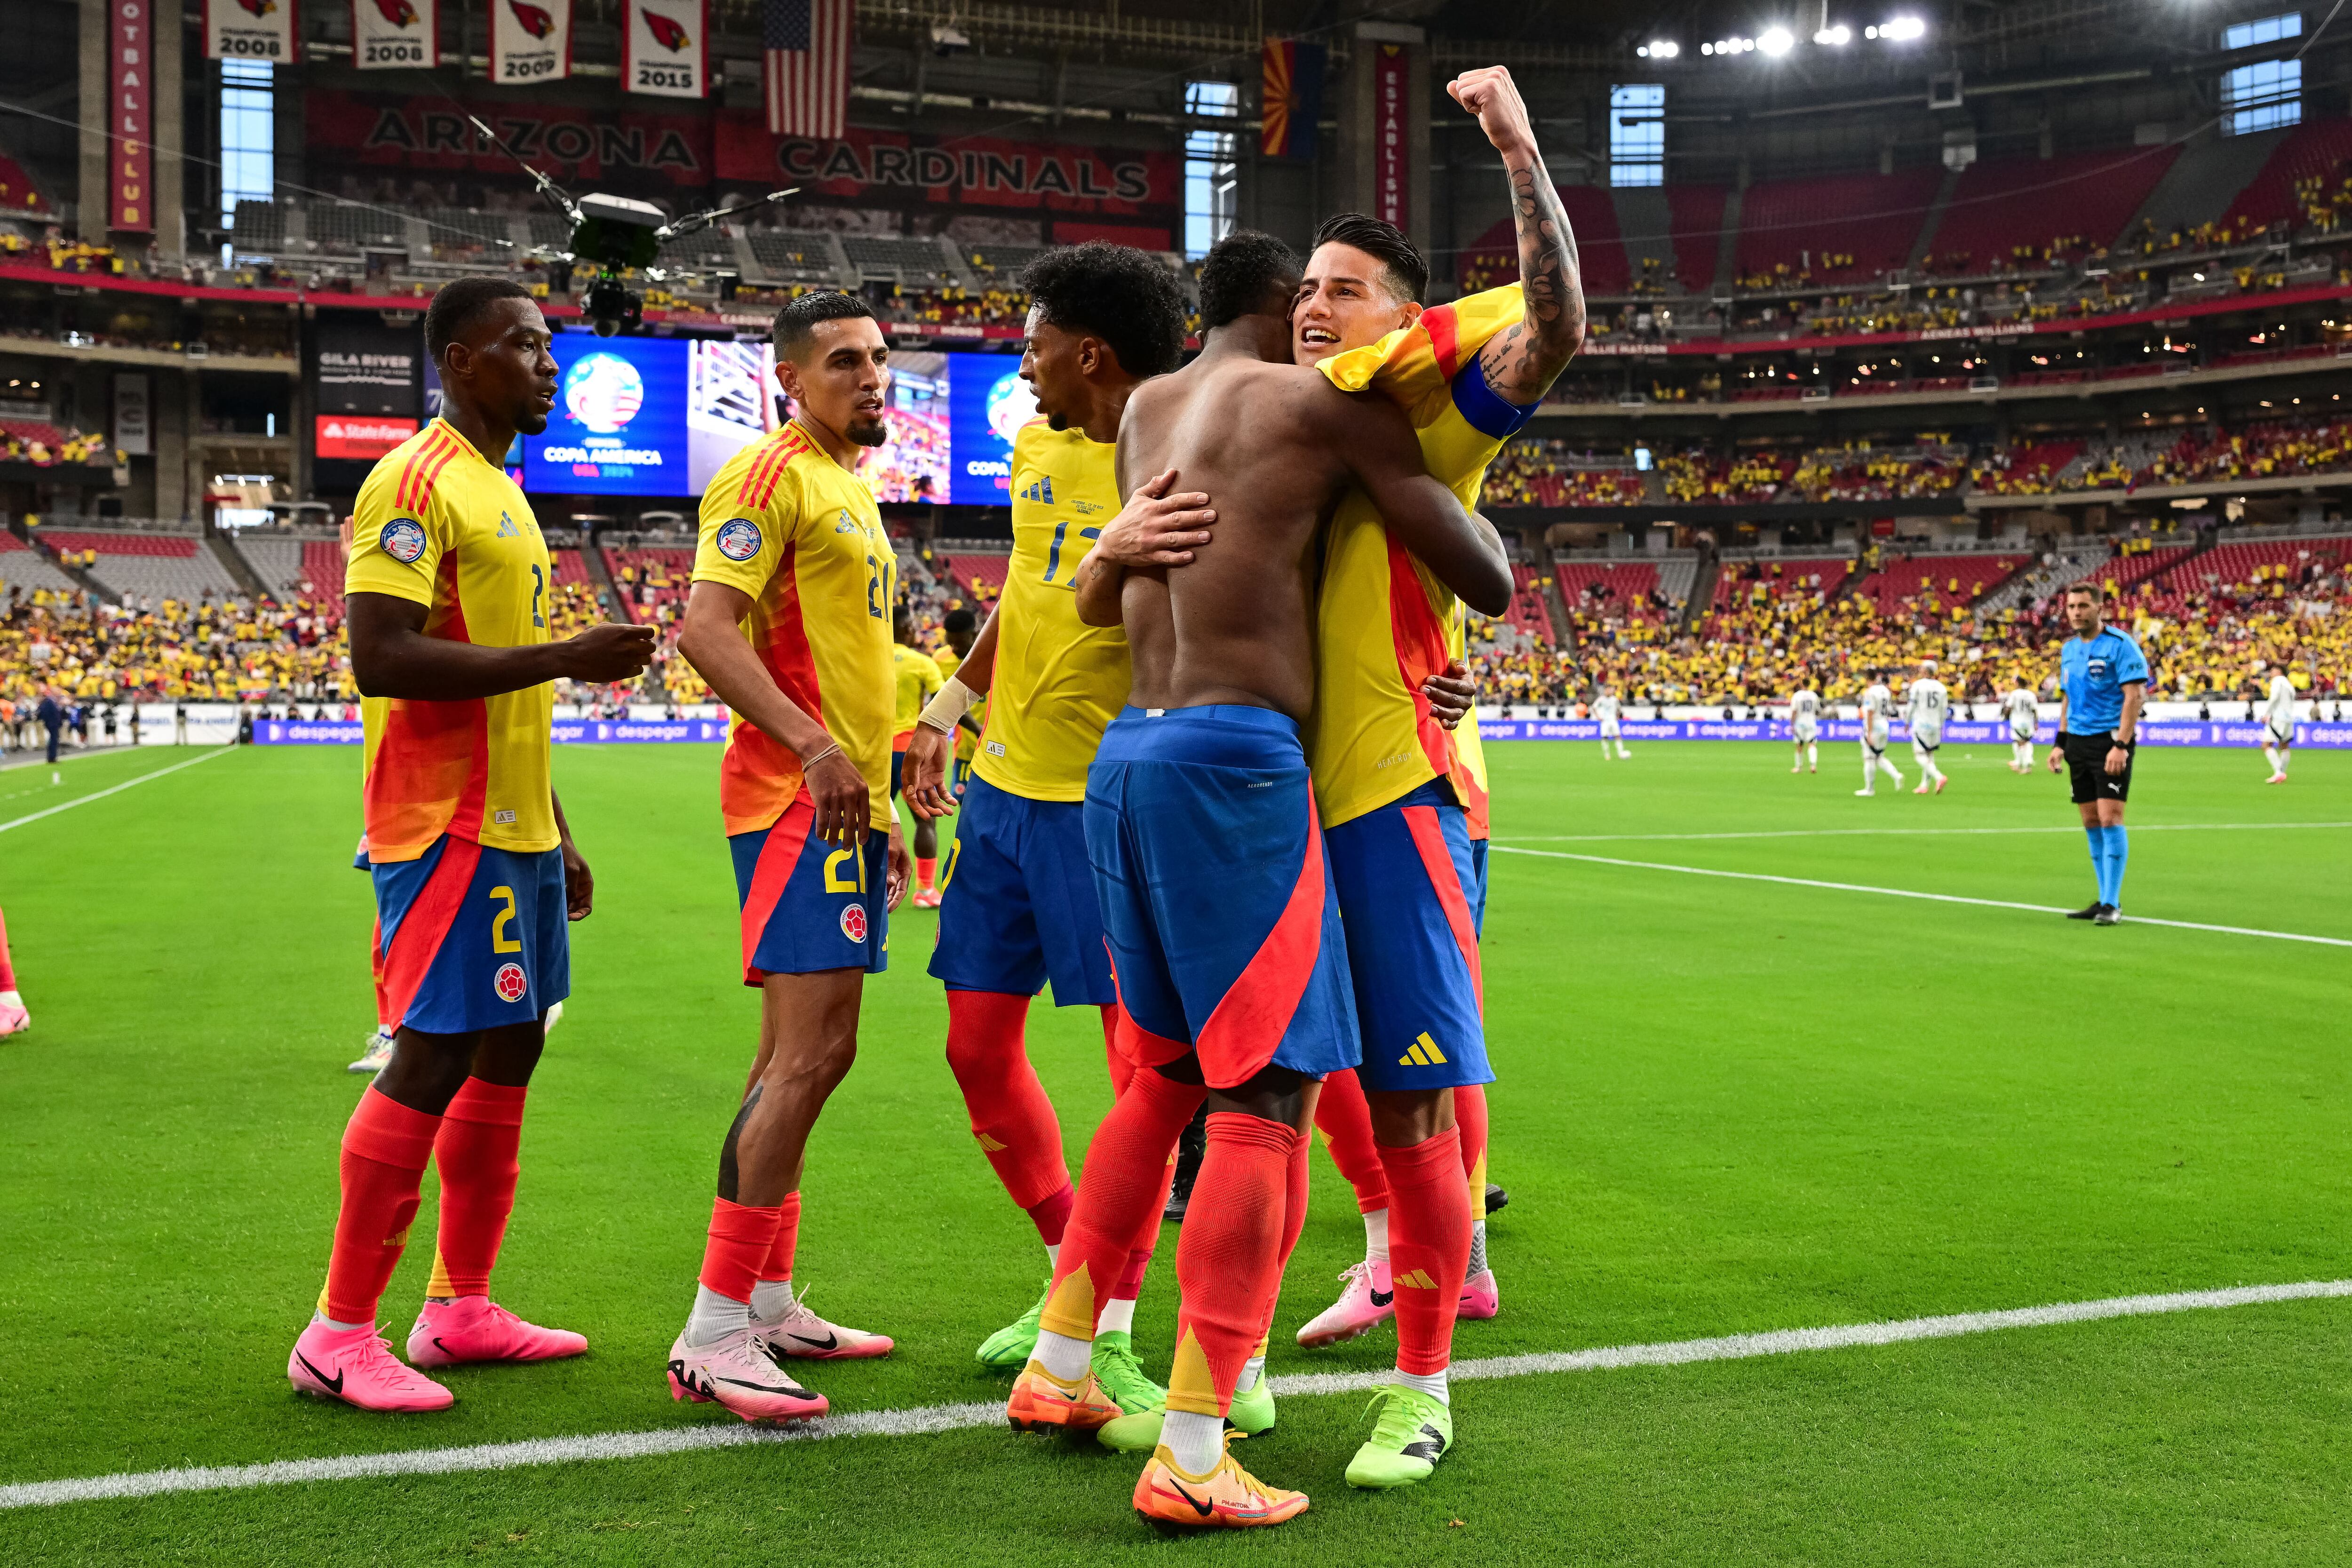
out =
[[[727,839],[743,910],[743,985],[823,969],[889,969],[889,832],[863,849],[828,844],[809,827],[802,790],[771,827]]]

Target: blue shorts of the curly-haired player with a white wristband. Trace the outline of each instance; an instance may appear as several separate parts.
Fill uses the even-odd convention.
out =
[[[1117,1001],[1080,802],[974,778],[938,898],[931,978],[948,990],[1035,997],[1051,980],[1054,1006]]]

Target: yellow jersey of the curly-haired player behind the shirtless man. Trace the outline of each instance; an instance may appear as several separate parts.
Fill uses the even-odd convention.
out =
[[[1042,418],[1014,437],[1014,559],[974,771],[1028,799],[1084,799],[1103,729],[1127,703],[1127,632],[1077,618],[1077,569],[1120,515],[1117,447]]]

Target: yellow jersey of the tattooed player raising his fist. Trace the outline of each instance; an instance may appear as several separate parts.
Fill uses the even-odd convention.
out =
[[[1378,390],[1414,416],[1421,458],[1475,508],[1486,463],[1524,411],[1486,388],[1477,353],[1522,317],[1519,284],[1425,310],[1414,327],[1324,360],[1343,390]],[[1486,837],[1486,752],[1477,722],[1446,731],[1421,682],[1461,658],[1465,623],[1454,597],[1388,536],[1364,491],[1350,491],[1324,536],[1315,609],[1315,712],[1308,766],[1324,827],[1376,811],[1446,778]]]

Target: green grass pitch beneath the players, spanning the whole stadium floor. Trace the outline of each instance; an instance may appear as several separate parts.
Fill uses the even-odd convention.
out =
[[[2063,783],[1952,748],[1938,799],[1853,799],[1851,745],[1496,745],[1486,922],[1503,1316],[1461,1356],[2352,1274],[2345,947],[1686,877],[1595,853],[2034,905],[2091,896]],[[181,752],[0,771],[0,823]],[[1905,771],[1910,771],[1907,759]],[[597,872],[524,1135],[501,1300],[586,1359],[459,1371],[454,1410],[296,1399],[336,1133],[362,1081],[355,750],[245,750],[0,832],[35,1032],[0,1044],[0,1483],[649,1432],[753,1044],[713,748],[564,748]],[[2352,938],[2352,759],[2150,750],[2126,917]],[[2180,830],[2166,830],[2178,825]],[[2220,827],[2234,825],[2234,827]],[[1858,835],[1870,827],[1882,832]],[[1926,830],[2034,832],[1926,832]],[[1818,837],[1625,837],[1625,835]],[[1042,1258],[971,1147],[901,912],[809,1154],[800,1274],[896,1335],[814,1366],[840,1410],[1002,1396],[971,1347]],[[1091,1011],[1033,1013],[1073,1166]],[[405,1335],[433,1187],[386,1300]],[[1362,1227],[1324,1157],[1275,1373]],[[1138,1345],[1164,1366],[1174,1232]],[[1315,1497],[1164,1540],[1134,1462],[1002,1429],[0,1512],[5,1563],[2321,1563],[2352,1559],[2352,1302],[1463,1382],[1418,1488],[1341,1483],[1362,1396],[1244,1460]]]

